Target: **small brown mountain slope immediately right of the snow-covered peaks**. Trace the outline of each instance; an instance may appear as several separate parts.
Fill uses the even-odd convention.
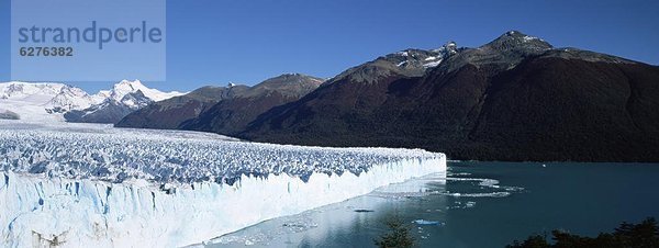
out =
[[[203,87],[190,93],[154,102],[137,110],[115,124],[118,127],[176,129],[185,121],[194,119],[219,101],[244,94],[246,86]]]

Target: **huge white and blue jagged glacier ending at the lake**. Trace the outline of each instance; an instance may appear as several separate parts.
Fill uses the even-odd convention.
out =
[[[180,247],[444,171],[420,149],[0,121],[0,244]]]

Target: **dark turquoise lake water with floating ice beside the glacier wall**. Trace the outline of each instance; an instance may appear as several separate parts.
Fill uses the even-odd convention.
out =
[[[551,229],[596,235],[623,221],[659,218],[656,164],[448,166],[446,174],[267,221],[206,247],[375,247],[393,215],[409,224],[418,247],[504,247]]]

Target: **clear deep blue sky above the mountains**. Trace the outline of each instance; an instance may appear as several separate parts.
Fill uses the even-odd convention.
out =
[[[10,78],[9,15],[0,0],[0,81]],[[658,25],[657,0],[168,0],[167,81],[145,83],[187,91],[283,72],[328,78],[395,50],[473,47],[509,30],[658,65]]]

